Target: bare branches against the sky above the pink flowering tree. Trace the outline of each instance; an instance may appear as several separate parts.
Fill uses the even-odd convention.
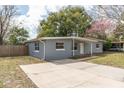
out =
[[[90,15],[96,18],[109,18],[114,19],[117,22],[123,21],[121,19],[122,14],[124,13],[123,5],[95,5],[91,8]]]

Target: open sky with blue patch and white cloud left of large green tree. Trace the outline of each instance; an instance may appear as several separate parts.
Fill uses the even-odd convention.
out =
[[[22,23],[22,26],[25,27],[29,31],[29,39],[35,38],[37,36],[37,26],[39,21],[47,15],[47,10],[49,11],[57,11],[62,6],[56,5],[18,5],[18,12],[21,14],[16,17],[16,22]],[[88,9],[89,6],[85,6]]]

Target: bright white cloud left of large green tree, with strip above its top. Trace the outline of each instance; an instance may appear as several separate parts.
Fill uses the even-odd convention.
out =
[[[22,25],[29,30],[30,39],[37,36],[37,26],[39,25],[39,20],[42,20],[47,15],[46,9],[50,11],[56,11],[60,6],[29,6],[29,11],[26,15],[21,15],[16,17],[17,22],[22,22]]]

